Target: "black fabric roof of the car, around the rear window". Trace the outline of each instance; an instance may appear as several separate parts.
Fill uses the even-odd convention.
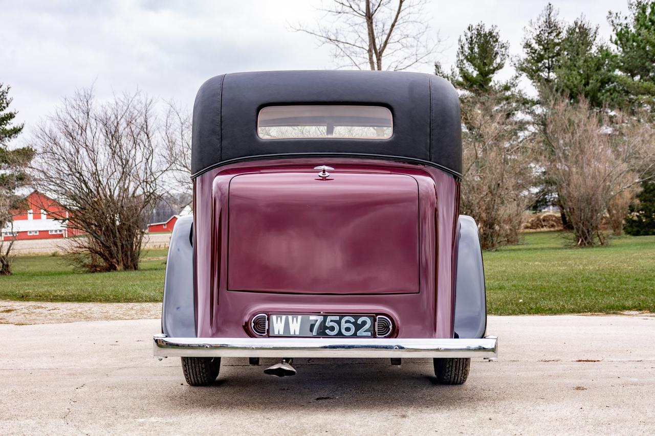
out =
[[[259,110],[271,105],[379,105],[393,116],[389,139],[257,136]],[[242,158],[301,154],[420,160],[462,169],[459,99],[436,75],[396,71],[263,71],[212,77],[193,106],[194,177]]]

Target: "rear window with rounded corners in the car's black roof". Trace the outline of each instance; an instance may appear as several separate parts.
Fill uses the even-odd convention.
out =
[[[388,139],[392,133],[391,111],[382,106],[268,106],[257,118],[257,134],[262,139]]]

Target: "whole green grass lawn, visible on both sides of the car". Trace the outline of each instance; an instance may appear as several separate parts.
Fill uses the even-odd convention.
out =
[[[485,252],[489,314],[655,312],[655,236],[622,236],[608,247],[567,248],[563,232],[525,234],[523,244]],[[161,301],[166,250],[140,271],[84,274],[62,257],[20,256],[0,277],[0,299]]]

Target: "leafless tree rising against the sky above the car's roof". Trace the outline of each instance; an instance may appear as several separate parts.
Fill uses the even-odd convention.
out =
[[[426,0],[331,0],[313,28],[293,27],[332,48],[338,67],[402,71],[432,62],[439,36],[430,35]]]

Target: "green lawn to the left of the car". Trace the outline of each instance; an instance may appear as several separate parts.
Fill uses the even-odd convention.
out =
[[[0,277],[0,299],[30,301],[161,301],[168,250],[147,250],[138,271],[88,274],[62,257],[18,256],[13,273]]]

